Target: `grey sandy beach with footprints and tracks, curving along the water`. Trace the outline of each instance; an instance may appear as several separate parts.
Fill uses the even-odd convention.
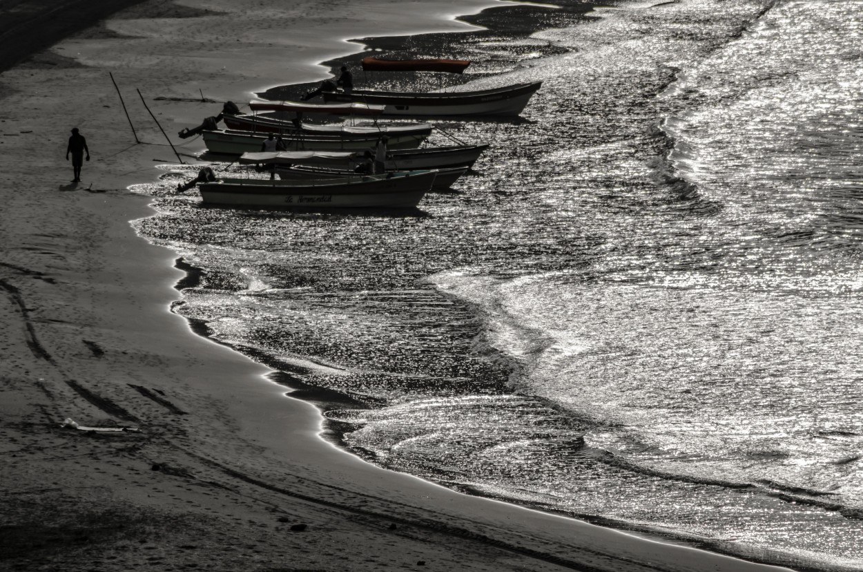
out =
[[[153,210],[128,187],[177,162],[161,129],[193,162],[202,143],[176,133],[214,102],[331,77],[320,62],[362,50],[350,38],[468,31],[454,16],[500,3],[97,4],[127,7],[64,4],[77,32],[0,62],[0,569],[778,570],[370,466],[171,312],[178,252],[129,224]],[[39,3],[0,3],[22,7]],[[21,22],[3,41],[28,45],[40,24]]]

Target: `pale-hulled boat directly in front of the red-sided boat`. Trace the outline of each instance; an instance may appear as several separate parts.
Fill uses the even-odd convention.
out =
[[[243,155],[247,152],[260,151],[265,139],[264,135],[255,135],[249,131],[236,130],[205,130],[201,132],[204,144],[211,153],[222,155]],[[337,137],[331,135],[301,135],[284,137],[287,150],[351,150],[372,149],[380,136],[369,137]],[[389,149],[416,149],[425,141],[425,135],[387,136]]]

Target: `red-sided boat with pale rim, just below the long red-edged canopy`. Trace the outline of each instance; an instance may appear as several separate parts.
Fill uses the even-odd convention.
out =
[[[299,120],[280,119],[264,115],[224,115],[222,123],[225,128],[235,131],[251,131],[253,133],[278,133],[292,137],[307,135],[327,135],[334,137],[375,137],[386,135],[431,135],[431,124],[413,125],[320,125],[304,124]]]

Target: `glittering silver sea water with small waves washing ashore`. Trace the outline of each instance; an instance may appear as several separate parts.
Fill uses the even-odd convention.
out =
[[[142,187],[140,232],[203,269],[176,310],[350,397],[326,416],[381,466],[863,569],[863,3],[560,14],[449,47],[544,85],[526,121],[438,123],[493,148],[419,215]]]

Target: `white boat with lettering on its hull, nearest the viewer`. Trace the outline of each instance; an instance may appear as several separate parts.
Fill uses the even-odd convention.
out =
[[[299,209],[413,208],[431,190],[435,171],[358,175],[324,181],[222,178],[198,184],[206,205]]]

